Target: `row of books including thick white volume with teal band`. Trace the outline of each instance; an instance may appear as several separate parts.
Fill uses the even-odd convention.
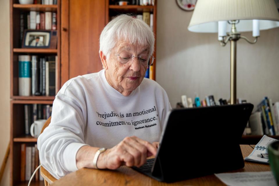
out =
[[[19,55],[19,96],[55,96],[57,56]]]

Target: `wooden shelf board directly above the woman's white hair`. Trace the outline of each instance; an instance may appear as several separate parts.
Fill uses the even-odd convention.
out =
[[[119,5],[109,5],[108,8],[110,10],[119,10],[121,12],[153,12],[153,6],[140,6],[140,5],[126,5],[126,6],[119,6]]]

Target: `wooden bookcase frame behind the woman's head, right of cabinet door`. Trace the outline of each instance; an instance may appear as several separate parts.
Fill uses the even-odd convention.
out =
[[[138,15],[141,14],[143,12],[150,12],[151,14],[153,14],[153,32],[155,35],[155,45],[154,45],[154,53],[153,56],[155,57],[155,60],[153,62],[153,68],[152,68],[152,77],[149,77],[153,80],[155,80],[156,77],[156,29],[157,29],[157,4],[155,1],[154,6],[152,5],[148,5],[148,6],[141,6],[141,5],[125,5],[125,6],[119,6],[119,5],[115,5],[114,3],[112,3],[112,1],[110,0],[106,0],[106,4],[105,4],[105,17],[106,17],[106,24],[108,24],[108,22],[110,21],[112,16],[116,16],[119,14],[133,14],[133,15]]]

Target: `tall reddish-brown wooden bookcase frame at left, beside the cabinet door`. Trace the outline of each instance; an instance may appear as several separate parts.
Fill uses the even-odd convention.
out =
[[[21,181],[21,145],[34,146],[37,138],[25,134],[25,115],[24,105],[42,104],[52,105],[55,96],[19,96],[18,78],[18,56],[19,55],[38,55],[38,56],[57,56],[56,74],[56,93],[60,88],[60,0],[57,5],[41,5],[18,3],[18,0],[10,0],[10,185],[28,185],[28,181]],[[20,14],[22,12],[56,12],[57,25],[57,49],[41,48],[21,48],[20,42]],[[43,186],[44,181],[31,182],[31,185]]]

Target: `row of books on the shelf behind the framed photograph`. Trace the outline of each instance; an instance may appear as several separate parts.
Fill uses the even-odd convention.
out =
[[[19,17],[20,43],[24,37],[24,30],[56,30],[56,12],[21,12]]]

